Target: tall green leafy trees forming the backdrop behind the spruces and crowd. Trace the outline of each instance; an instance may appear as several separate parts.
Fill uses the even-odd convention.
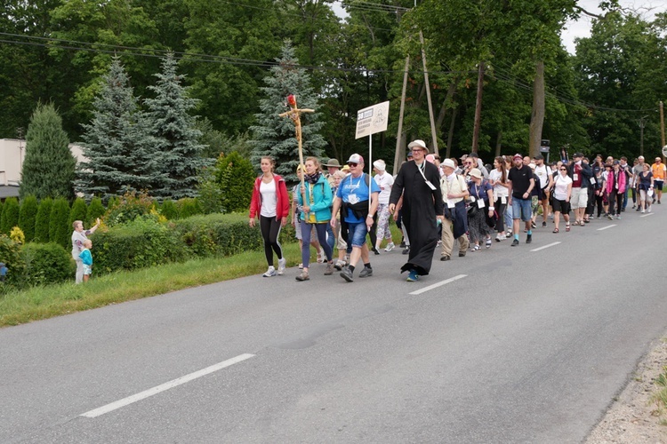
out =
[[[150,102],[143,100],[156,97],[155,73],[164,72],[160,60],[173,52],[189,99],[196,100],[186,114],[201,116],[192,130],[201,134],[191,136],[209,146],[200,155],[216,157],[224,144],[261,142],[267,136],[262,115],[271,104],[277,107],[262,101],[277,100],[264,90],[271,86],[265,78],[281,66],[289,39],[296,67],[308,75],[317,98],[313,137],[322,139],[312,149],[318,155],[344,160],[364,154],[367,141],[354,139],[356,111],[384,100],[391,101],[390,128],[374,139],[374,156],[385,159],[409,139],[437,142],[448,156],[470,152],[474,140],[485,159],[533,152],[539,139],[550,139],[554,153],[569,147],[629,158],[642,150],[642,135],[645,155],[656,155],[662,145],[657,109],[667,84],[656,80],[667,68],[667,16],[648,21],[615,0],[601,2],[603,13],[591,18],[591,37],[577,42],[575,55],[560,43],[567,20],[586,13],[571,0],[423,0],[416,6],[413,0],[345,0],[344,20],[333,13],[332,0],[5,4],[4,138],[16,137],[36,104],[50,101],[68,138],[83,140],[95,117],[100,78],[114,57],[145,111]],[[397,141],[406,60],[406,110]],[[436,140],[430,137],[427,88]],[[293,135],[275,137],[280,142]],[[258,155],[258,144],[253,147]],[[156,193],[162,188],[156,186]]]

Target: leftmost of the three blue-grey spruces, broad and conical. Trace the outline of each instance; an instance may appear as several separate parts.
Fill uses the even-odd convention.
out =
[[[106,201],[113,195],[150,188],[157,164],[155,140],[149,136],[148,121],[118,58],[102,76],[93,108],[92,122],[83,125],[88,161],[79,164],[76,191]]]

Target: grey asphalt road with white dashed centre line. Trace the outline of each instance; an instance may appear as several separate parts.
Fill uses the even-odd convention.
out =
[[[663,210],[0,329],[0,442],[580,442],[667,326]]]

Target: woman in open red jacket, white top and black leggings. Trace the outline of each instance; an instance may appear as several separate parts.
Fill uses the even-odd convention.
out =
[[[290,200],[285,179],[273,173],[276,163],[269,156],[261,158],[261,176],[254,181],[253,200],[250,202],[250,226],[256,217],[260,218],[261,237],[264,239],[264,254],[269,270],[264,277],[285,273],[283,249],[278,242],[280,228],[287,223]],[[273,266],[273,251],[278,257],[278,269]]]

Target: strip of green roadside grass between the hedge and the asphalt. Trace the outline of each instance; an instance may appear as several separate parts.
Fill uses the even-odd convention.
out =
[[[391,232],[398,244],[400,234],[395,225],[391,226]],[[284,244],[283,250],[287,266],[296,266],[301,262],[298,243]],[[195,259],[181,264],[153,266],[100,277],[93,274],[90,281],[80,285],[72,281],[0,296],[0,327],[39,321],[265,271],[264,252],[252,251],[229,258]]]

